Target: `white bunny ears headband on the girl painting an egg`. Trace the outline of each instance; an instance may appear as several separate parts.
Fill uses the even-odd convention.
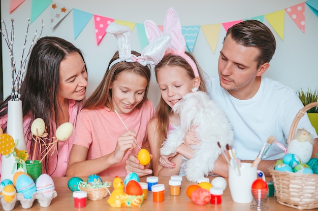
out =
[[[146,66],[149,64],[158,64],[165,55],[165,51],[171,41],[170,35],[160,36],[149,42],[142,52],[141,56],[132,54],[131,51],[131,30],[127,26],[119,25],[114,22],[110,23],[106,29],[108,33],[112,33],[117,38],[117,47],[119,58],[114,60],[108,67],[110,69],[114,64],[122,61],[138,62]]]

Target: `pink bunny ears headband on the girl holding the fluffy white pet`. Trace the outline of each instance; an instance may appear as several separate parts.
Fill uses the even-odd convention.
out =
[[[181,31],[180,19],[173,7],[169,8],[166,14],[164,33],[151,20],[145,21],[145,30],[149,43],[151,43],[151,41],[153,41],[157,37],[169,34],[171,36],[171,43],[165,54],[173,54],[185,59],[185,61],[192,67],[195,76],[199,77],[196,63],[184,53],[186,43]]]

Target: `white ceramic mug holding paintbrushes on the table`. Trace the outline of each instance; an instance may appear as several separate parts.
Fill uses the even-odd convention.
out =
[[[229,166],[229,188],[234,202],[250,203],[253,200],[251,193],[252,183],[258,178],[262,171],[257,170],[257,166],[251,167],[251,163],[241,163],[240,175],[237,170]],[[263,173],[262,179],[265,181]]]

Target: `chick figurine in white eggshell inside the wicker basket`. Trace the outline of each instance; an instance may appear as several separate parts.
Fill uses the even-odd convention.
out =
[[[287,153],[296,154],[302,163],[307,163],[312,154],[312,135],[305,129],[298,129],[295,139],[290,141]]]

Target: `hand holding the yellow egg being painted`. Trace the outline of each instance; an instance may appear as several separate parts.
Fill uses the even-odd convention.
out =
[[[152,155],[150,154],[150,158],[152,159]],[[149,164],[142,165],[140,164],[140,161],[137,158],[137,155],[132,153],[129,155],[128,159],[126,159],[126,172],[127,174],[130,174],[132,172],[135,172],[139,177],[143,177],[146,175],[152,174],[152,170],[148,168]]]

